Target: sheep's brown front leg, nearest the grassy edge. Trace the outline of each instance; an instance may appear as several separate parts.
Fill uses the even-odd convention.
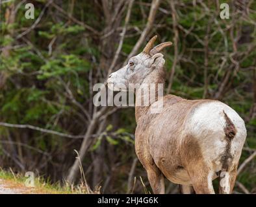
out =
[[[147,169],[147,178],[155,194],[164,194],[164,176],[157,166]]]

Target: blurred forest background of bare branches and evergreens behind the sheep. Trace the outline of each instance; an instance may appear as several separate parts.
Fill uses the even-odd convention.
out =
[[[34,19],[25,17],[27,3],[34,5]],[[222,3],[229,5],[229,19],[220,18]],[[220,100],[244,118],[248,136],[234,192],[256,193],[256,1],[0,5],[2,169],[33,171],[50,182],[85,178],[101,193],[151,191],[134,153],[134,108],[95,107],[92,87],[157,35],[157,43],[173,42],[164,52],[165,94]],[[166,182],[166,193],[178,192]]]

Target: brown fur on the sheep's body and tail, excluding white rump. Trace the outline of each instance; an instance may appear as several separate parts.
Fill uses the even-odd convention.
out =
[[[152,72],[147,76],[146,83],[154,83],[155,80],[161,83],[163,79],[158,76],[160,74],[157,71]],[[136,96],[136,98],[141,97]],[[153,191],[161,192],[156,183],[162,183],[162,175],[164,175],[174,183],[181,183],[181,180],[184,183],[191,181],[196,193],[212,193],[213,189],[209,190],[207,186],[210,169],[204,163],[198,141],[192,135],[184,134],[183,129],[185,120],[194,114],[199,105],[216,101],[185,100],[174,95],[166,95],[162,98],[163,111],[160,114],[150,113],[150,105],[135,107],[137,122],[135,150],[147,170]],[[235,130],[231,120],[227,116],[225,119],[227,122],[225,135],[230,139]],[[228,154],[223,156],[224,160],[228,158]]]

